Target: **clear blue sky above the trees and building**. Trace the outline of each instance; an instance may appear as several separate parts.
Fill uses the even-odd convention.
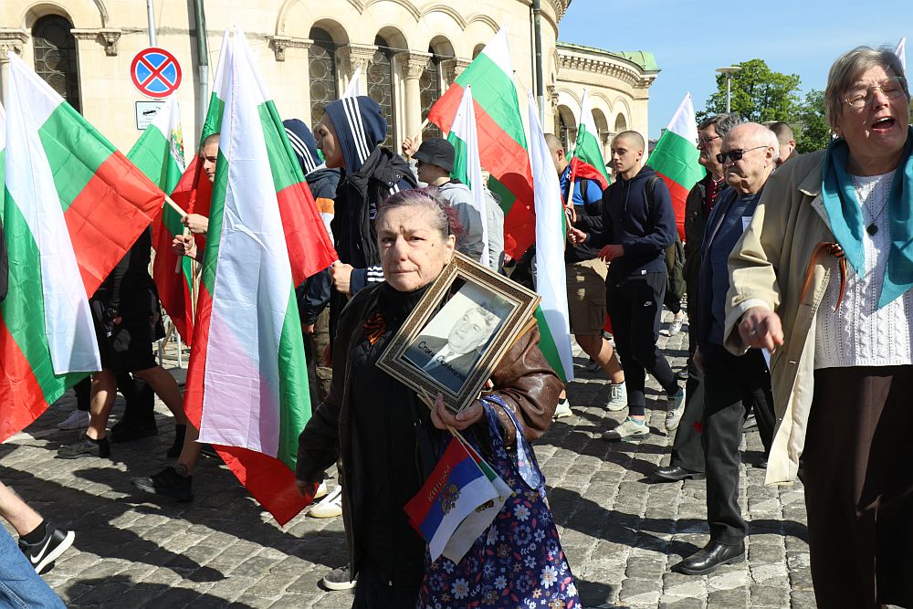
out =
[[[859,45],[907,37],[913,73],[913,0],[572,0],[559,40],[609,51],[652,51],[662,70],[650,88],[650,137],[659,136],[690,90],[702,110],[714,71],[761,58],[824,89],[834,59]]]

